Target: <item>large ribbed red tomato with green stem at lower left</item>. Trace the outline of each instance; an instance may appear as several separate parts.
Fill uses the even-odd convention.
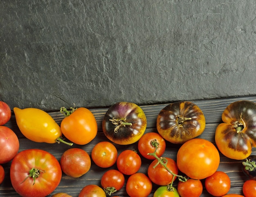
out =
[[[21,151],[11,162],[11,184],[21,196],[45,197],[55,190],[61,176],[58,160],[44,150]]]

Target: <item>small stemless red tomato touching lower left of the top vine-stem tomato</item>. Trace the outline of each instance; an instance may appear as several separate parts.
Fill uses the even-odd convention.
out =
[[[117,169],[125,174],[132,175],[139,171],[141,166],[141,158],[132,150],[122,151],[117,157]]]

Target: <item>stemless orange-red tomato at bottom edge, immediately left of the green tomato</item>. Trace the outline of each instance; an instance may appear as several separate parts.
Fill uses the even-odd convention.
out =
[[[148,197],[152,191],[152,182],[143,173],[130,175],[126,183],[126,192],[130,197]]]

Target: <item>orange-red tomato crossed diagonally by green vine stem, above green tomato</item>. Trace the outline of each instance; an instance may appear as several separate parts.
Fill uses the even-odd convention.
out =
[[[171,158],[163,158],[163,163],[166,167],[175,175],[178,174],[178,167],[176,162]],[[173,179],[173,175],[167,171],[165,166],[162,164],[158,164],[158,160],[155,159],[148,166],[148,177],[150,180],[157,185],[168,185],[171,184],[172,180],[175,180],[177,177],[175,176]],[[161,177],[161,178],[159,178]]]

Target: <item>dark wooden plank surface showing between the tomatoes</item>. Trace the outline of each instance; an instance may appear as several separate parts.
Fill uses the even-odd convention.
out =
[[[207,99],[207,100],[197,100],[197,101],[192,101],[196,105],[202,109],[202,112],[204,113],[204,116],[206,118],[206,127],[204,132],[198,137],[198,138],[204,138],[206,140],[209,140],[215,144],[214,141],[214,134],[215,134],[215,129],[219,123],[221,123],[221,114],[224,111],[224,109],[229,105],[230,103],[233,103],[234,101],[238,100],[249,100],[249,101],[255,101],[256,102],[256,96],[243,96],[243,97],[235,97],[235,98],[225,98],[225,99]],[[144,113],[146,114],[147,118],[147,128],[146,132],[157,132],[156,129],[156,118],[157,115],[159,114],[160,110],[164,108],[168,103],[163,103],[163,104],[157,104],[157,105],[143,105],[140,106],[143,110]],[[18,106],[17,106],[18,107]],[[60,106],[63,107],[63,106]],[[70,107],[70,106],[65,106],[65,107]],[[86,145],[77,145],[74,144],[72,147],[78,147],[81,149],[84,149],[87,151],[89,154],[92,151],[92,148],[94,147],[97,142],[100,141],[108,141],[106,136],[102,132],[101,128],[101,122],[103,119],[103,116],[105,115],[106,111],[108,110],[108,107],[105,108],[90,108],[92,113],[94,114],[97,123],[98,123],[98,134],[94,140],[92,140],[89,144]],[[60,125],[61,120],[63,119],[63,114],[60,112],[49,112],[49,114],[56,120],[56,122]],[[17,125],[16,125],[16,120],[15,116],[11,116],[11,120],[5,125],[9,128],[11,128],[18,136],[19,141],[20,141],[20,149],[19,151],[23,151],[25,149],[43,149],[45,151],[48,151],[52,153],[58,161],[60,161],[61,155],[63,152],[70,147],[65,144],[47,144],[47,143],[37,143],[28,140],[25,138],[19,131]],[[131,144],[131,145],[117,145],[115,144],[118,150],[118,153],[125,149],[137,149],[137,143]],[[180,145],[175,145],[171,144],[170,142],[166,142],[166,151],[163,156],[173,158],[176,160],[176,154],[179,149]],[[253,148],[253,153],[256,154],[256,148]],[[142,165],[141,169],[139,172],[146,173],[147,172],[147,167],[150,164],[151,161],[142,159]],[[4,182],[0,185],[0,196],[8,196],[8,197],[17,197],[19,196],[13,187],[11,186],[11,181],[9,178],[9,169],[10,169],[10,164],[11,162],[7,164],[2,164],[6,177],[4,179]],[[98,166],[96,166],[92,162],[92,166],[90,168],[90,171],[86,173],[85,175],[79,177],[79,178],[72,178],[70,176],[67,176],[63,173],[61,183],[59,186],[54,190],[54,192],[49,195],[52,196],[55,193],[58,192],[64,192],[67,193],[73,197],[77,197],[81,189],[88,185],[88,184],[97,184],[100,186],[100,179],[103,173],[109,169],[116,169],[116,165],[108,168],[108,169],[103,169]],[[245,180],[247,180],[247,177],[243,174],[241,171],[241,161],[240,160],[231,160],[224,155],[220,153],[220,165],[218,168],[218,171],[224,171],[226,172],[230,179],[231,179],[231,189],[229,190],[229,193],[236,193],[236,194],[241,194],[243,195],[242,192],[242,186]],[[126,180],[128,176],[125,176]],[[204,185],[204,180],[202,180],[202,183]],[[175,181],[174,186],[177,186],[177,180]],[[154,191],[156,190],[158,186],[153,184],[153,190],[150,196],[153,196]],[[128,196],[125,190],[125,185],[124,187],[114,193],[112,196],[119,195],[119,196]],[[210,197],[207,193],[207,191],[203,190],[203,193],[201,195],[202,197]]]

